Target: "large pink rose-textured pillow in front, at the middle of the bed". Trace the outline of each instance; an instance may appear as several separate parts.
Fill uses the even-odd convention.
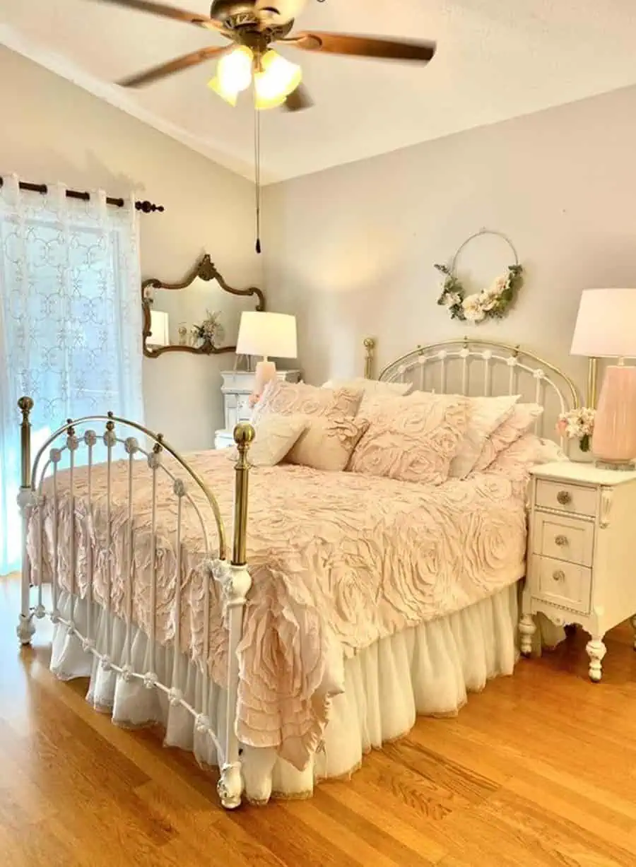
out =
[[[416,392],[367,401],[369,429],[351,455],[352,473],[441,485],[467,426],[467,401]]]

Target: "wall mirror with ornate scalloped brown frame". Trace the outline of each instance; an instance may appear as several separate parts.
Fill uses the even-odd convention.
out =
[[[265,295],[257,286],[234,289],[206,253],[180,283],[144,280],[141,307],[147,358],[165,352],[220,355],[236,350],[240,314],[265,310]]]

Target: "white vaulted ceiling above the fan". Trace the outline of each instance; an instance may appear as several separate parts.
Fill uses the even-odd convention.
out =
[[[297,26],[436,39],[437,55],[410,67],[281,52],[316,105],[262,114],[266,181],[636,83],[633,0],[307,0]],[[220,37],[93,0],[0,0],[0,42],[252,177],[249,99],[230,108],[213,95],[212,63],[139,91],[109,83]]]

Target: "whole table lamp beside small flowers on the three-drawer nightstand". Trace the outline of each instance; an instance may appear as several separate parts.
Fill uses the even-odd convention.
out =
[[[607,366],[594,419],[598,466],[633,470],[636,458],[636,289],[587,289],[580,297],[572,355],[616,358]]]

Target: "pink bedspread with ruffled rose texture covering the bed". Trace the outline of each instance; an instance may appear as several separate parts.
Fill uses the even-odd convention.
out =
[[[187,460],[215,493],[231,539],[233,462],[224,452]],[[176,472],[176,471],[175,471]],[[176,473],[180,478],[184,473]],[[134,461],[134,620],[147,633],[150,593],[150,472]],[[60,582],[69,574],[68,473],[58,474]],[[176,498],[173,482],[158,473],[156,636],[174,636]],[[49,484],[49,483],[47,483]],[[343,687],[344,655],[384,636],[423,623],[501,590],[523,575],[526,536],[525,484],[504,474],[482,473],[464,481],[423,486],[357,473],[325,473],[305,466],[252,469],[248,564],[253,578],[241,642],[239,739],[273,746],[298,768],[318,747],[330,695]],[[193,484],[195,502],[212,516]],[[112,473],[111,606],[123,616],[128,575],[128,464]],[[87,554],[93,552],[94,595],[105,604],[106,470],[95,466],[92,518],[87,522],[87,473],[75,470],[75,589],[87,593]],[[52,564],[52,504],[45,500],[43,578]],[[202,662],[204,557],[200,524],[187,507],[182,531],[181,649]],[[89,530],[87,532],[87,523]],[[38,578],[37,515],[29,551]],[[229,542],[228,542],[229,544]],[[226,679],[226,632],[219,590],[213,588],[213,679]]]

